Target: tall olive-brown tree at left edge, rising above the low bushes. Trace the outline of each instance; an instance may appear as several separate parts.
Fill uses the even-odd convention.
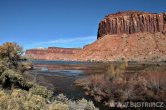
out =
[[[4,43],[0,46],[0,83],[4,88],[19,88],[28,90],[32,85],[23,77],[27,64],[22,62],[22,47],[16,43]]]

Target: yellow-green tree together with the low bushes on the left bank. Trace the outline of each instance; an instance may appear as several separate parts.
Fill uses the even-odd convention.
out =
[[[53,96],[28,73],[33,66],[22,57],[16,43],[0,46],[0,110],[96,110],[91,101],[72,101],[63,94]]]

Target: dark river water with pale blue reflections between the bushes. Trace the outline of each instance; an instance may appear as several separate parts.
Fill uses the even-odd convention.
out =
[[[92,100],[100,110],[109,110],[102,103],[94,101],[92,97],[86,96],[84,91],[74,85],[74,81],[92,74],[103,74],[106,72],[108,63],[76,62],[76,61],[33,61],[33,74],[36,82],[54,91],[54,95],[63,93],[69,99],[77,100],[85,98]],[[128,73],[143,70],[145,65],[132,63],[128,67]]]

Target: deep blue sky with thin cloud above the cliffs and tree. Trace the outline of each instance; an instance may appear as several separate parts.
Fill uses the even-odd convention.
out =
[[[106,15],[128,10],[166,12],[166,0],[0,0],[0,45],[83,47]]]

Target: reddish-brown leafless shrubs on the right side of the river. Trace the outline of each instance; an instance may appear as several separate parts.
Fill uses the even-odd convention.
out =
[[[125,102],[166,102],[165,68],[147,66],[135,73],[127,73],[127,68],[127,62],[110,64],[105,74],[90,75],[75,84],[109,107],[119,107],[119,103],[125,107]]]

